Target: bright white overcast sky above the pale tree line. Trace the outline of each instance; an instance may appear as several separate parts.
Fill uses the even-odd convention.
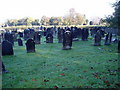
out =
[[[64,16],[70,8],[85,14],[89,20],[92,17],[104,18],[114,12],[114,2],[116,0],[1,0],[0,23],[24,17]]]

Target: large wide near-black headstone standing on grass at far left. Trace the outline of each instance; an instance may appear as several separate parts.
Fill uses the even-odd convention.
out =
[[[9,42],[8,40],[5,40],[2,42],[2,55],[13,55],[14,51],[13,51],[13,45],[11,42]]]

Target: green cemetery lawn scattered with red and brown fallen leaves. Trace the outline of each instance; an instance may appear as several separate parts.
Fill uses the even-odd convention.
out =
[[[118,88],[117,44],[93,46],[94,41],[73,42],[71,50],[62,44],[36,45],[36,53],[14,46],[13,56],[3,56],[10,73],[3,74],[3,88]],[[26,41],[24,41],[25,43]]]

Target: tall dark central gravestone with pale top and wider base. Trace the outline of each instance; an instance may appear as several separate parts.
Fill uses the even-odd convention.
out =
[[[69,50],[72,47],[72,33],[67,30],[63,34],[63,50]]]

